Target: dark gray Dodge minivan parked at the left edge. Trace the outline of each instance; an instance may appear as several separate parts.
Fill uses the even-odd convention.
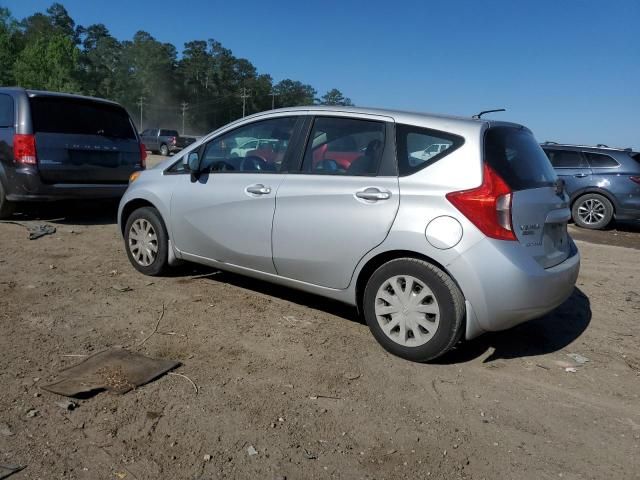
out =
[[[121,197],[145,158],[115,102],[0,88],[0,217],[16,202]]]

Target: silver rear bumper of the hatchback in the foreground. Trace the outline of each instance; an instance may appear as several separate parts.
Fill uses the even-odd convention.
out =
[[[580,253],[571,241],[569,257],[544,269],[518,242],[485,239],[448,265],[471,305],[466,338],[505,330],[550,312],[575,287]]]

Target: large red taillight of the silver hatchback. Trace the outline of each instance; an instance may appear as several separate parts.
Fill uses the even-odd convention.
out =
[[[486,163],[482,170],[482,185],[448,193],[447,200],[486,236],[516,240],[511,222],[511,189]]]

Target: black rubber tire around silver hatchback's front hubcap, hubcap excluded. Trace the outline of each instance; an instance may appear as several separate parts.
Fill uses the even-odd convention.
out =
[[[157,253],[153,261],[148,265],[144,265],[136,259],[131,247],[131,234],[132,226],[136,221],[146,221],[151,225],[157,238]],[[134,241],[135,243],[135,241]],[[153,207],[141,207],[134,210],[129,218],[124,229],[124,244],[127,251],[127,257],[131,265],[135,267],[141,273],[149,276],[161,275],[168,269],[168,254],[169,254],[169,235],[167,229],[160,217],[160,213]]]

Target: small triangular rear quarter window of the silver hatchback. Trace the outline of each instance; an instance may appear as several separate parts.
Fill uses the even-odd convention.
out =
[[[431,165],[453,152],[463,143],[462,137],[450,133],[410,125],[398,125],[396,144],[400,176],[411,175],[427,165]]]

